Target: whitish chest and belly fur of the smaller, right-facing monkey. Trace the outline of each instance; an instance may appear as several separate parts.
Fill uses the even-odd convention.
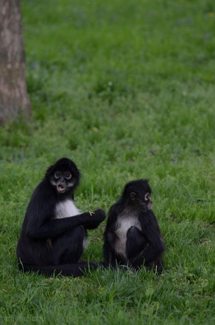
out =
[[[138,217],[134,215],[120,215],[118,217],[116,223],[116,230],[115,234],[118,236],[119,239],[116,240],[115,250],[118,254],[126,256],[126,239],[127,239],[127,231],[131,227],[137,227],[141,231],[141,225],[138,220]]]

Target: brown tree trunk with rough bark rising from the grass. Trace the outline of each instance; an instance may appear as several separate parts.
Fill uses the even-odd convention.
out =
[[[20,0],[0,0],[0,124],[31,114]]]

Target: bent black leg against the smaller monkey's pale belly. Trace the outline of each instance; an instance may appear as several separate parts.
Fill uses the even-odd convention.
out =
[[[137,227],[131,227],[128,229],[126,240],[126,254],[128,260],[137,256],[146,245],[146,239]]]

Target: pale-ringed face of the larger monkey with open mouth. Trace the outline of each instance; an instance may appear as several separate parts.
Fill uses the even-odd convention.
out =
[[[56,188],[56,191],[63,194],[69,191],[74,182],[72,181],[72,174],[70,171],[56,171],[51,177],[51,184]]]

